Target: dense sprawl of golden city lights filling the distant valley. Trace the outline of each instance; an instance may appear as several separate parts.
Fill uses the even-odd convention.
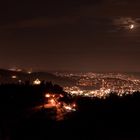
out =
[[[140,79],[120,73],[64,73],[61,77],[77,77],[75,86],[64,87],[64,91],[72,96],[105,99],[110,93],[123,96],[140,91]]]

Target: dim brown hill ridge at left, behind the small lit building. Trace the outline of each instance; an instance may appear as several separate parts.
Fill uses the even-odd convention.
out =
[[[12,79],[12,76],[17,76],[17,78]],[[5,69],[0,69],[0,83],[18,83],[18,80],[21,81],[27,81],[30,80],[32,83],[35,79],[47,80],[51,81],[53,83],[58,83],[61,86],[65,85],[73,85],[74,80],[69,78],[63,78],[56,76],[54,74],[48,73],[48,72],[32,72],[31,74],[28,74],[24,71],[10,71]]]

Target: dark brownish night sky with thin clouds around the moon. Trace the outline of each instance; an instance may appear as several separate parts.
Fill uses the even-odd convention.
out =
[[[139,62],[140,0],[0,4],[1,68],[140,72]]]

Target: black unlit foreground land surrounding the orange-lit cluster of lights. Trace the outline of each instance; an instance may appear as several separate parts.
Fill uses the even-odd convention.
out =
[[[57,121],[51,109],[30,110],[43,101],[47,88],[0,86],[0,140],[140,139],[140,93],[105,100],[77,98],[77,111]]]

